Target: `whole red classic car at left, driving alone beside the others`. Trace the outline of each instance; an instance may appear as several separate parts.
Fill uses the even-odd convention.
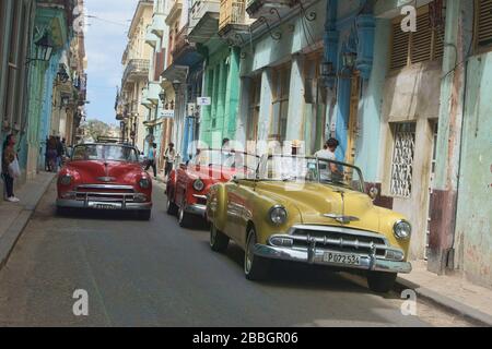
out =
[[[152,179],[140,166],[137,148],[77,145],[58,173],[57,208],[60,214],[71,208],[130,210],[149,220]]]

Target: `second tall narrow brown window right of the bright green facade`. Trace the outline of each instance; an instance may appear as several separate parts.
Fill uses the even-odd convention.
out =
[[[291,85],[291,64],[281,65],[272,72],[272,123],[270,139],[284,141],[289,115],[289,93]]]

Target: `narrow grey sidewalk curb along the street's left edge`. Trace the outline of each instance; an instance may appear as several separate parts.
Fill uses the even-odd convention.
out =
[[[55,177],[55,176],[54,176]],[[7,229],[5,233],[0,239],[0,270],[5,266],[15,244],[22,236],[25,227],[27,226],[31,217],[36,210],[42,197],[46,194],[49,185],[52,182],[54,177],[49,180],[46,180],[43,183],[39,183],[42,189],[37,193],[38,196],[35,198],[34,204],[25,206],[17,217],[15,221]]]

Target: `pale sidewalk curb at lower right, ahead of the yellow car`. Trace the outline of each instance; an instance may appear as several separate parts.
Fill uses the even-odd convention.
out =
[[[466,320],[469,320],[480,326],[488,326],[488,327],[492,326],[491,315],[485,314],[464,303],[460,303],[454,299],[450,299],[449,297],[437,293],[429,288],[421,287],[420,285],[402,279],[400,277],[398,277],[396,280],[396,288],[400,290],[412,289],[422,299],[425,299],[432,302],[433,304],[443,308],[448,312],[460,315]]]

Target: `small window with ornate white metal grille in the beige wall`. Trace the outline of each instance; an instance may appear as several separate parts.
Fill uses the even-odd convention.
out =
[[[390,193],[394,196],[410,197],[415,153],[415,123],[397,123],[394,130]]]

